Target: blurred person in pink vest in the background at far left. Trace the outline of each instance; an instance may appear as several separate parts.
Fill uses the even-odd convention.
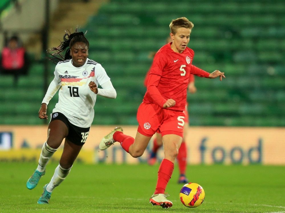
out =
[[[27,74],[27,64],[25,48],[17,36],[12,36],[1,52],[1,74],[14,75],[14,83],[17,85],[19,75]]]

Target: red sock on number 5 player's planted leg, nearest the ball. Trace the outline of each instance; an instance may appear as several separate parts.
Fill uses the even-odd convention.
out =
[[[158,178],[154,194],[164,194],[166,185],[171,178],[174,164],[167,159],[163,159],[158,169]]]

